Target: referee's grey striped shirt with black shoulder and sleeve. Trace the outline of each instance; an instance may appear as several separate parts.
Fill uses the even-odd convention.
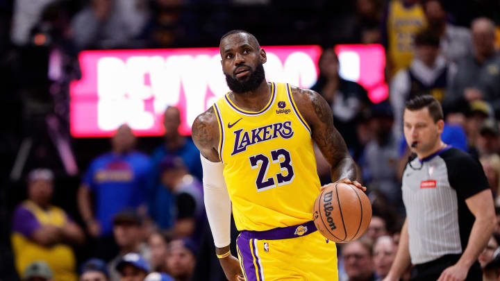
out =
[[[481,164],[457,148],[410,160],[402,192],[412,264],[461,254],[474,224],[465,199],[488,188]]]

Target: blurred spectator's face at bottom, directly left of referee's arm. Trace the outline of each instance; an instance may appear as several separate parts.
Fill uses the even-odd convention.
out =
[[[374,245],[374,268],[379,280],[387,276],[396,257],[397,246],[390,236],[381,236]]]

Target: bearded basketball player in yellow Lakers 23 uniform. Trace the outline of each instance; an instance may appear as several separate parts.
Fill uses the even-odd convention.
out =
[[[331,164],[333,181],[365,190],[356,164],[316,92],[267,83],[266,52],[246,31],[220,41],[232,92],[194,121],[205,204],[217,257],[228,280],[338,280],[335,244],[316,231],[320,185],[313,141]],[[229,221],[241,235],[229,250]]]

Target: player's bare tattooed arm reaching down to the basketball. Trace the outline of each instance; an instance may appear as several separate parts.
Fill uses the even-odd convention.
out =
[[[356,163],[349,155],[344,139],[333,126],[333,114],[328,103],[312,90],[292,87],[292,94],[299,112],[311,128],[313,140],[331,166],[332,181],[345,178],[353,182],[357,180]]]

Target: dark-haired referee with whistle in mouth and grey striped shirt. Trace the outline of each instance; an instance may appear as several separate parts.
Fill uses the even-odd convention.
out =
[[[413,153],[403,173],[406,220],[385,281],[414,264],[411,280],[482,280],[477,262],[495,223],[492,192],[481,164],[444,144],[440,103],[433,96],[406,102],[404,135]]]

